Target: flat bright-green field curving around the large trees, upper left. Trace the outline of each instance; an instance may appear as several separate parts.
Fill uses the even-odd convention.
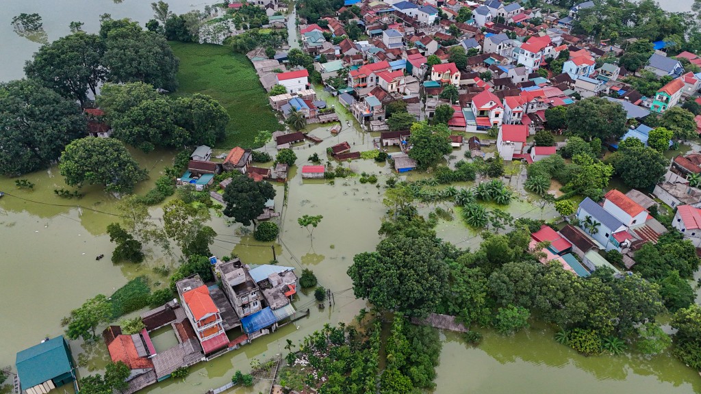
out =
[[[250,148],[259,130],[283,130],[251,62],[226,46],[170,41],[180,60],[178,94],[201,93],[222,103],[231,121],[217,148]]]

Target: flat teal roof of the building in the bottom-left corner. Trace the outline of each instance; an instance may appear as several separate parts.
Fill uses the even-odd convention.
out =
[[[55,337],[17,353],[15,360],[22,390],[71,372],[68,344]]]

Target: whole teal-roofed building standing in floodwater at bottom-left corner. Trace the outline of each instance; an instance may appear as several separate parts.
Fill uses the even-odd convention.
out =
[[[62,336],[20,351],[15,365],[19,389],[26,394],[48,393],[76,380],[71,350]]]

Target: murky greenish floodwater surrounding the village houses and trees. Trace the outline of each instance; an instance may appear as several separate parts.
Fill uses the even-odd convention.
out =
[[[190,1],[169,1],[172,11],[182,13],[205,4]],[[98,15],[111,13],[114,18],[128,17],[139,22],[151,18],[147,1],[78,0],[61,1],[60,6],[46,11],[46,2],[36,0],[6,0],[0,8],[0,80],[6,81],[22,76],[22,64],[31,57],[38,44],[16,36],[10,27],[13,15],[38,12],[43,15],[44,27],[49,39],[67,34],[72,20],[86,22],[88,31],[97,29]],[[291,20],[294,20],[290,18]],[[363,133],[348,111],[327,93],[318,90],[319,96],[334,105],[343,130],[336,137],[328,132],[329,125],[314,128],[311,133],[324,138],[319,145],[304,145],[296,150],[297,165],[304,165],[307,157],[317,153],[326,161],[327,147],[347,141],[353,151],[372,149],[372,137],[377,133]],[[346,121],[351,123],[348,127]],[[273,152],[271,145],[268,151]],[[151,179],[137,187],[137,193],[145,193],[153,186],[165,165],[172,160],[172,153],[157,151],[149,155],[134,152],[143,168],[147,168]],[[462,157],[455,154],[454,162]],[[338,165],[334,163],[334,165]],[[358,172],[374,172],[382,185],[390,175],[390,168],[373,161],[343,163]],[[411,174],[410,179],[421,175]],[[157,266],[177,264],[177,255],[163,254],[161,250],[150,250],[143,264],[112,264],[109,258],[95,261],[97,254],[109,257],[112,245],[104,233],[107,224],[118,220],[116,199],[97,187],[86,187],[80,200],[58,198],[53,189],[67,187],[57,168],[26,175],[36,184],[34,191],[19,190],[13,179],[0,177],[0,190],[8,193],[0,199],[0,368],[13,365],[15,353],[38,343],[43,337],[62,333],[60,320],[72,308],[95,294],[111,294],[129,279],[146,275],[151,283],[167,282],[165,276],[155,273]],[[514,175],[512,183],[521,182]],[[283,208],[285,189],[275,184],[278,196],[275,203]],[[463,186],[470,186],[465,184]],[[382,200],[383,187],[360,184],[357,177],[336,179],[333,184],[324,180],[302,180],[301,171],[293,169],[288,184],[287,205],[280,218],[282,231],[280,243],[275,244],[276,257],[281,265],[297,269],[311,268],[320,285],[332,290],[334,304],[318,309],[311,294],[299,293],[297,308],[311,308],[308,318],[282,327],[277,332],[261,337],[252,344],[227,353],[211,362],[200,363],[191,368],[191,374],[182,381],[163,381],[151,386],[144,393],[205,393],[210,388],[222,386],[230,381],[237,369],[250,370],[250,360],[266,360],[283,353],[285,339],[297,342],[325,323],[351,322],[364,301],[353,297],[351,280],[346,275],[353,255],[374,249],[378,242],[377,230],[385,213]],[[529,201],[533,196],[524,195],[509,206],[515,217],[526,216],[549,219],[554,216],[552,208],[540,210]],[[422,212],[433,209],[425,206]],[[315,229],[313,238],[297,224],[302,215],[324,215]],[[158,208],[152,210],[157,218]],[[271,244],[258,243],[245,236],[240,225],[229,224],[223,217],[214,216],[210,224],[219,234],[212,245],[212,252],[238,254],[243,261],[263,264],[273,259]],[[459,217],[451,222],[441,221],[437,232],[442,238],[461,247],[479,245],[474,231],[466,228]],[[11,317],[11,318],[9,318]],[[169,332],[159,333],[158,346],[172,343]],[[696,372],[668,356],[641,358],[637,355],[623,357],[583,358],[552,340],[553,333],[545,327],[533,327],[513,337],[501,337],[485,332],[482,346],[472,348],[465,345],[456,334],[446,334],[441,365],[438,367],[435,393],[512,393],[562,391],[566,387],[573,393],[594,391],[620,393],[693,393],[701,390]],[[99,372],[109,361],[104,344],[86,345],[72,341],[74,358],[79,362],[79,374]],[[4,388],[7,390],[8,386]],[[266,392],[269,382],[261,381],[252,388],[240,388],[234,393]]]

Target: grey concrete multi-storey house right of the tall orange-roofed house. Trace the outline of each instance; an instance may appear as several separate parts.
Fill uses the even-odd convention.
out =
[[[238,318],[243,319],[263,308],[260,290],[240,259],[217,260],[215,271]]]

